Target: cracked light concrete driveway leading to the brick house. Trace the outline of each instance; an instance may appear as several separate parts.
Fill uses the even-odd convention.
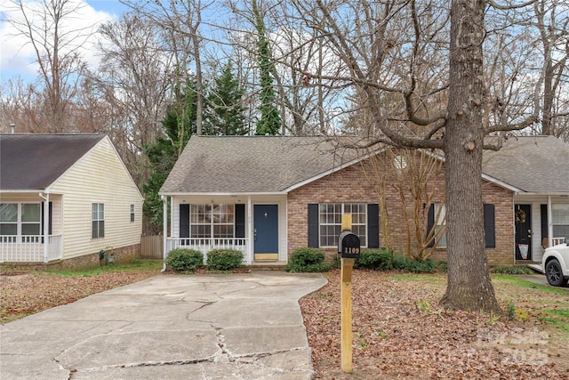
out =
[[[320,274],[157,276],[0,327],[0,378],[310,379]]]

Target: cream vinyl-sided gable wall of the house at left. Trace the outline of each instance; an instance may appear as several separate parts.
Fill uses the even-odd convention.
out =
[[[142,197],[108,137],[50,186],[63,193],[63,259],[140,244]],[[92,239],[92,204],[105,205],[105,236]],[[134,205],[134,222],[131,222]],[[55,210],[54,210],[55,214]]]

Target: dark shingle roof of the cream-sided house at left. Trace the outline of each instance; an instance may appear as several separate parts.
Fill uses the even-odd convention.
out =
[[[0,190],[44,190],[104,134],[0,134]]]

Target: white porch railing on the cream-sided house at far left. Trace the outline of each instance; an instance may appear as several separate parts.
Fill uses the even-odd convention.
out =
[[[47,258],[43,236],[0,236],[0,263],[48,263],[63,255],[61,235],[47,237]]]

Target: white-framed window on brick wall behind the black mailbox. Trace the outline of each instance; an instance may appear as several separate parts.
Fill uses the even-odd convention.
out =
[[[352,232],[362,247],[367,247],[367,205],[365,203],[321,203],[318,206],[320,247],[338,247],[341,215],[352,215]]]

